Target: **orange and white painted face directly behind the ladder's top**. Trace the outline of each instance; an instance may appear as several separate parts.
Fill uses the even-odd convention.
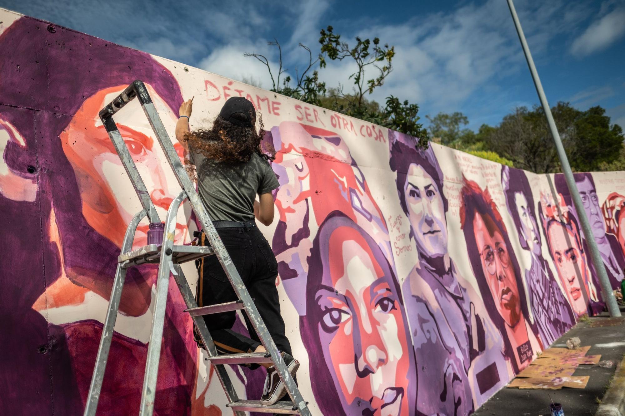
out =
[[[168,131],[173,131],[176,115],[151,86],[146,86],[164,126]],[[63,151],[76,172],[85,219],[94,230],[118,247],[121,247],[126,226],[133,215],[141,210],[141,204],[113,142],[99,120],[98,112],[125,87],[103,89],[86,99],[60,136]],[[154,138],[148,119],[136,101],[119,111],[114,119],[139,174],[151,192],[159,216],[164,220],[166,210],[180,188]],[[187,232],[182,214],[180,210],[176,241],[183,240]],[[147,244],[147,232],[148,224],[144,220],[137,229],[135,246]]]

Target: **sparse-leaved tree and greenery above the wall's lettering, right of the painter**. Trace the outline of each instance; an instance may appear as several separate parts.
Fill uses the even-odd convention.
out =
[[[281,80],[282,74],[287,69],[282,67],[282,48],[277,40],[269,42],[269,45],[276,46],[279,52],[276,77],[265,56],[252,53],[244,56],[255,57],[267,67],[272,81],[271,91],[409,134],[417,137],[417,147],[427,148],[428,134],[419,122],[417,104],[389,96],[386,97],[385,106],[382,108],[376,101],[367,99],[369,94],[384,84],[384,79],[391,73],[392,59],[395,56],[394,47],[382,45],[377,37],[373,40],[356,37],[356,44],[350,47],[347,42],[341,41],[341,35],[336,34],[332,26],[322,29],[320,34],[321,51],[316,59],[313,59],[309,47],[299,44],[308,52],[309,61],[301,74],[295,70],[294,79],[286,76]],[[344,86],[340,84],[326,89],[325,82],[319,81],[319,70],[326,67],[328,59],[331,61],[347,59],[356,63],[356,72],[349,76],[353,81],[351,92],[345,92]],[[313,69],[317,64],[319,69]]]

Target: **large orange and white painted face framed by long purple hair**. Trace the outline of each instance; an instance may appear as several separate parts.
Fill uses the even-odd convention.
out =
[[[332,230],[326,249],[318,309],[311,312],[342,408],[349,415],[407,415],[411,349],[392,272],[354,227]]]

